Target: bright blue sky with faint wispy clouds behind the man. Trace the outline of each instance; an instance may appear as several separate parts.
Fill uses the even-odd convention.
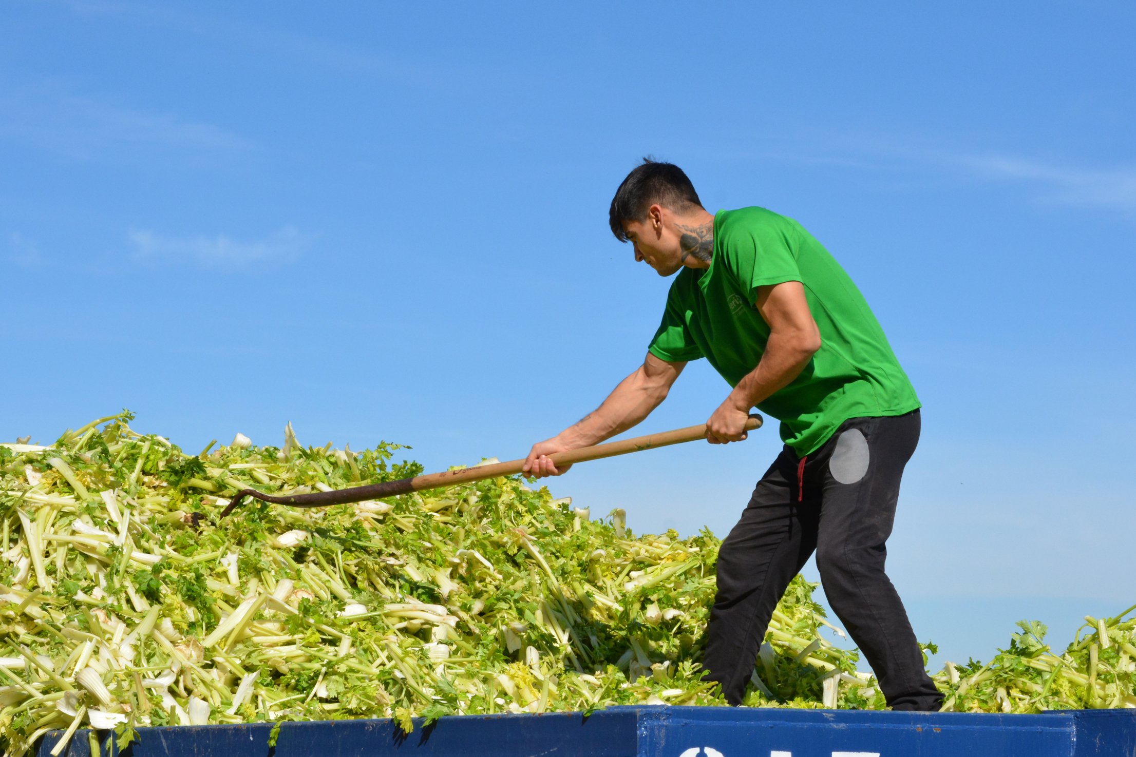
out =
[[[0,438],[524,455],[642,360],[648,153],[796,218],[925,403],[888,571],[941,658],[1136,603],[1130,3],[27,2],[0,10]],[[703,361],[704,363],[704,361]],[[638,430],[705,420],[692,364]],[[554,480],[725,535],[775,424]],[[810,566],[809,574],[816,577]]]

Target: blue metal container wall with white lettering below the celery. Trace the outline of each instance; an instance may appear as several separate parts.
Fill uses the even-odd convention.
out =
[[[152,727],[123,757],[1136,757],[1136,710],[1043,715],[732,707],[612,707],[443,717],[407,735],[391,721]],[[37,757],[60,733],[48,734]],[[109,733],[102,757],[117,749]],[[91,757],[86,732],[66,757]]]

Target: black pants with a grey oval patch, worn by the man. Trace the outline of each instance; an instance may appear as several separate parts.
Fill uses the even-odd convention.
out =
[[[938,709],[907,611],[884,573],[903,466],[919,411],[853,418],[804,460],[788,446],[753,490],[718,554],[707,679],[741,704],[774,607],[813,550],[833,611],[893,709]]]

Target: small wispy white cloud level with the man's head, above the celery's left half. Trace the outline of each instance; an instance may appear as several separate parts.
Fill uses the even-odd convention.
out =
[[[285,226],[266,239],[240,242],[217,236],[168,237],[149,230],[127,235],[141,259],[190,261],[211,268],[241,268],[253,263],[292,262],[300,256],[304,239],[294,227]]]

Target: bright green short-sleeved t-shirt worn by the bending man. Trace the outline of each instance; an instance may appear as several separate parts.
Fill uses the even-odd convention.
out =
[[[661,360],[707,358],[730,386],[752,371],[769,339],[758,287],[801,281],[820,329],[817,352],[793,382],[758,409],[782,422],[799,455],[850,418],[902,415],[919,398],[884,329],[840,263],[791,218],[765,208],[722,210],[710,268],[683,268],[670,286],[650,351]]]

